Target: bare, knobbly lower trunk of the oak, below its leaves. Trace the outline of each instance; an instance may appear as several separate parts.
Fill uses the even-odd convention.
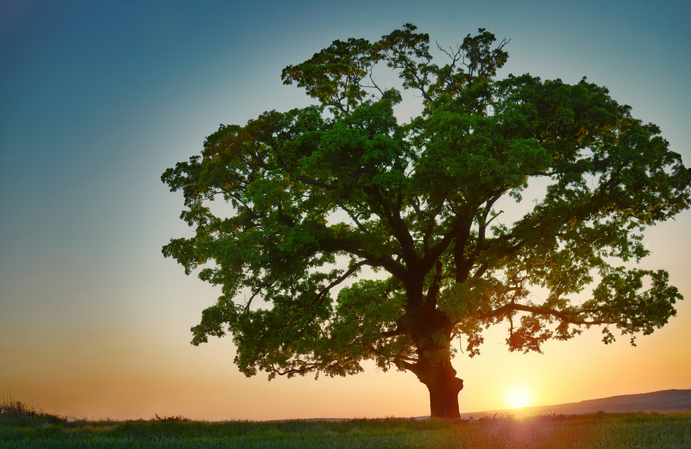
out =
[[[430,415],[442,419],[460,418],[458,393],[463,390],[463,380],[456,377],[451,360],[424,365],[414,372],[430,392]]]

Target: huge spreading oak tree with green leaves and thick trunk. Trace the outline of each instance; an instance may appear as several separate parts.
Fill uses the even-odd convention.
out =
[[[247,376],[345,376],[371,359],[412,371],[432,416],[453,418],[463,388],[454,338],[470,356],[499,323],[511,351],[593,325],[605,343],[613,327],[633,343],[674,316],[682,297],[667,272],[614,261],[646,256],[641,231],[689,207],[691,175],[659,128],[606,88],[498,79],[507,41],[483,29],[439,48],[448,59],[433,64],[415,31],[334,41],[287,66],[284,83],[318,104],[222,125],[200,156],[167,170],[196,233],[163,253],[222,287],[192,343],[231,333]],[[422,97],[410,123],[392,109],[400,91],[375,83],[378,64]],[[549,180],[544,199],[503,222],[495,204],[520,202],[535,178]],[[233,213],[214,215],[214,198]],[[365,266],[388,277],[334,298]],[[536,287],[549,294],[536,300]]]

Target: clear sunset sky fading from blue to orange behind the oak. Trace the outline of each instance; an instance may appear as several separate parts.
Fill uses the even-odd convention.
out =
[[[163,258],[190,231],[160,174],[218,124],[310,104],[287,64],[407,22],[445,46],[480,27],[511,39],[501,75],[607,86],[688,166],[690,19],[688,1],[0,0],[0,396],[88,418],[428,414],[410,372],[267,382],[238,372],[228,337],[191,346],[219,292]],[[684,211],[645,233],[639,267],[687,298],[668,325],[637,347],[591,329],[527,355],[492,328],[453,361],[461,411],[691,388],[690,225]]]

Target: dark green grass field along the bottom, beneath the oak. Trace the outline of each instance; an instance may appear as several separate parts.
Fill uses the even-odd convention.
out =
[[[341,422],[79,421],[0,413],[0,448],[691,448],[691,414]]]

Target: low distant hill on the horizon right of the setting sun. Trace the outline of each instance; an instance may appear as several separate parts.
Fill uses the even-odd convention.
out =
[[[462,413],[462,418],[481,418],[513,414],[527,417],[549,413],[593,413],[599,412],[691,412],[691,390],[663,390],[652,393],[623,394],[602,399],[571,402],[558,405],[540,405],[509,410],[488,410],[485,412]]]

